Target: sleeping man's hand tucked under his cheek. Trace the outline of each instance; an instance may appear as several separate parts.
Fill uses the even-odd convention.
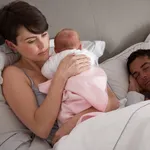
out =
[[[141,92],[141,88],[137,81],[130,75],[129,76],[129,91]]]

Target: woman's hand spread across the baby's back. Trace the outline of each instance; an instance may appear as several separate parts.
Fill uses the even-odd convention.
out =
[[[90,68],[90,58],[85,55],[71,54],[59,64],[58,70],[67,79]]]

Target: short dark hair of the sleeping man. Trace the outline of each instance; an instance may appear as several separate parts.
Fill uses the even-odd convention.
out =
[[[128,57],[127,60],[127,69],[129,74],[131,74],[130,71],[130,64],[137,58],[137,57],[144,57],[144,56],[148,56],[148,58],[150,58],[150,49],[144,50],[144,49],[139,49],[133,53],[131,53],[131,55]]]

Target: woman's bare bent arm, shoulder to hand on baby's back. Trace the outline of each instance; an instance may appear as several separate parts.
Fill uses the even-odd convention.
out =
[[[48,95],[40,107],[37,107],[30,81],[25,74],[17,67],[7,67],[3,72],[4,97],[23,124],[37,136],[47,138],[57,118],[67,79],[87,70],[88,61],[83,55],[64,58],[52,80]]]

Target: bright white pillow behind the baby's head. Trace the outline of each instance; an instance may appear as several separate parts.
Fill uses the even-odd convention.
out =
[[[105,42],[104,41],[81,41],[82,48],[87,49],[93,52],[97,57],[101,57],[105,50]],[[54,39],[50,40],[50,50],[51,54],[54,52]]]

